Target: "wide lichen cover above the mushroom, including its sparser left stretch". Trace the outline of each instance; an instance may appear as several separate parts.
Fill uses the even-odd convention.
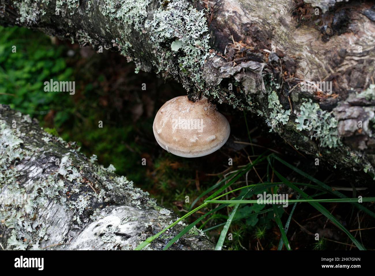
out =
[[[185,0],[160,1],[157,7],[150,0],[104,0],[104,3],[102,14],[120,32],[113,43],[121,54],[132,57],[136,72],[141,68],[149,70],[145,65],[148,62],[165,77],[180,76],[202,86],[201,68],[210,55],[203,10],[197,11],[192,2]],[[143,54],[134,52],[134,44],[137,47],[145,44],[154,58],[144,60]]]

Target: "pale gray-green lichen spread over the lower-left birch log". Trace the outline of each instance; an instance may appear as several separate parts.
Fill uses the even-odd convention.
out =
[[[68,216],[71,214],[76,227],[80,227],[82,219],[88,222],[99,216],[103,202],[121,202],[125,198],[135,207],[141,208],[142,201],[149,200],[148,193],[133,187],[133,182],[125,176],[114,175],[114,166],[99,166],[95,164],[96,157],[90,158],[88,164],[82,163],[80,158],[77,159],[78,148],[75,143],[67,143],[44,131],[37,133],[34,128],[25,128],[25,125],[30,125],[29,116],[22,116],[18,112],[13,118],[10,123],[0,119],[0,223],[11,229],[7,248],[40,249],[42,241],[50,238],[47,234],[49,225],[45,225],[45,220],[40,217],[48,212],[47,206],[51,208],[57,204],[56,208],[64,210]],[[30,143],[30,137],[39,137],[43,142]],[[58,154],[54,144],[61,145],[61,149],[65,148],[68,152],[59,158],[50,157],[51,154]],[[50,171],[46,172],[47,176],[43,175],[42,167],[28,167],[28,161],[33,158],[42,158],[48,164],[46,167]],[[95,167],[98,173],[95,173]],[[27,170],[30,173],[26,182],[19,182]],[[96,184],[85,178],[87,170],[98,181]],[[114,194],[118,195],[117,198],[113,198]],[[7,204],[4,195],[27,197],[22,202]],[[83,216],[85,212],[90,216]],[[104,239],[107,237],[110,240],[110,232],[104,235]]]

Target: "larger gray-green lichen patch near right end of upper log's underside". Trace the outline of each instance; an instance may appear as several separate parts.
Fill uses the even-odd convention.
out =
[[[309,99],[297,112],[297,130],[308,131],[310,138],[317,139],[322,147],[336,148],[342,143],[337,132],[338,121],[332,113],[321,110],[319,104]]]

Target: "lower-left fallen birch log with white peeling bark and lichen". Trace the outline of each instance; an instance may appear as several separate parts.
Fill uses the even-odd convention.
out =
[[[177,220],[113,170],[0,105],[0,247],[131,250]],[[145,249],[162,249],[182,229],[177,224]],[[171,249],[214,244],[192,228]]]

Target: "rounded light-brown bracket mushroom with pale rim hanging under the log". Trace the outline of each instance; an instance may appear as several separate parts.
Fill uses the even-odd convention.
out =
[[[167,101],[152,126],[157,143],[181,157],[200,157],[221,148],[228,140],[228,120],[206,97],[192,102],[187,96]]]

